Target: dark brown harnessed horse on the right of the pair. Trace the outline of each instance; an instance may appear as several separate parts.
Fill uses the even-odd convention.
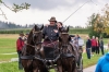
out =
[[[77,72],[76,70],[76,57],[77,50],[71,45],[70,35],[68,34],[69,27],[60,29],[59,35],[59,48],[61,48],[62,57],[62,72]]]

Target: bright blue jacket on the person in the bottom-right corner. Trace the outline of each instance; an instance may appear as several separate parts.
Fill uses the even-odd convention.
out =
[[[109,52],[99,59],[95,72],[109,72]]]

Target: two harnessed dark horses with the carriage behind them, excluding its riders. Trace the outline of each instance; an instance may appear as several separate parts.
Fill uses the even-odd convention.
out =
[[[25,72],[83,72],[82,52],[71,44],[69,28],[60,31],[59,40],[44,45],[43,29],[35,25],[22,51],[22,65]],[[77,62],[81,68],[77,68]]]

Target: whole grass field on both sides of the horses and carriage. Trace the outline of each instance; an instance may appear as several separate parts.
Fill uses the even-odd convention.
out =
[[[81,34],[81,36],[84,39],[86,39],[87,35]],[[11,35],[11,34],[0,35],[0,62],[9,61],[11,58],[17,58],[17,55],[2,55],[2,53],[16,52],[15,41],[17,37],[19,35]],[[108,39],[104,39],[104,41],[105,44],[107,44]],[[95,55],[94,57],[92,57],[90,60],[88,60],[86,53],[83,53],[84,68],[96,64],[99,57],[101,57],[101,55]],[[19,71],[17,69],[17,62],[9,62],[9,63],[0,63],[0,72],[21,72],[21,71]]]

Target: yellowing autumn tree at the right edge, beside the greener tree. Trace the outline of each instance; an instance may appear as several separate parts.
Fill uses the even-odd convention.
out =
[[[106,33],[109,35],[109,5],[106,4],[101,11],[104,15],[97,14],[94,29],[98,33]]]

